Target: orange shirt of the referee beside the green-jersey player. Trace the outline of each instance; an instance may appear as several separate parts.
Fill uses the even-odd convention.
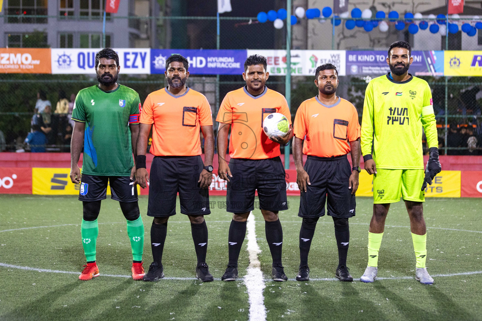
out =
[[[139,118],[141,124],[153,124],[150,153],[155,156],[201,155],[201,126],[212,126],[211,106],[206,97],[187,88],[174,96],[167,88],[151,92]]]

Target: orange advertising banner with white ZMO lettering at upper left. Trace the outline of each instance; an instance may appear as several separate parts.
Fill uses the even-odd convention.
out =
[[[50,74],[50,48],[0,48],[0,73]]]

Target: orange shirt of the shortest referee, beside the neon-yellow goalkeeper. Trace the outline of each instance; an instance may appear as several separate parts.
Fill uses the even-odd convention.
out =
[[[306,155],[345,155],[350,152],[349,142],[360,138],[357,109],[340,97],[333,105],[321,103],[318,96],[304,101],[296,112],[293,127],[294,135],[305,140]]]

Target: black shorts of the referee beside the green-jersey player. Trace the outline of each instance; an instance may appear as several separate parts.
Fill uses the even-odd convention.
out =
[[[175,215],[177,193],[182,214],[210,214],[208,189],[201,189],[198,183],[203,167],[200,155],[154,157],[149,175],[147,215]]]

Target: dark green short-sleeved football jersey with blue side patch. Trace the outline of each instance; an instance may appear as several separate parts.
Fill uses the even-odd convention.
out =
[[[82,174],[129,176],[134,166],[129,125],[139,124],[141,102],[135,90],[98,85],[77,94],[72,120],[85,123]]]

